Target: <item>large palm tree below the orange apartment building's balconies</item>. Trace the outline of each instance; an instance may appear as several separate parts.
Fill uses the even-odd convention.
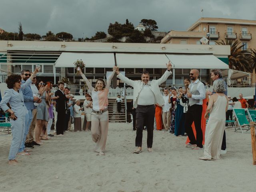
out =
[[[244,45],[240,45],[240,42],[236,40],[221,40],[220,42],[216,42],[219,45],[230,45],[230,55],[228,56],[229,60],[229,68],[240,70],[244,72],[252,73],[252,57],[251,53],[248,50],[243,50]]]

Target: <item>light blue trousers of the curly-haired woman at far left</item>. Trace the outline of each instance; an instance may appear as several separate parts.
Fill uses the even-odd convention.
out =
[[[10,120],[10,123],[12,125],[12,143],[8,160],[14,160],[24,138],[25,116],[19,116],[15,121]]]

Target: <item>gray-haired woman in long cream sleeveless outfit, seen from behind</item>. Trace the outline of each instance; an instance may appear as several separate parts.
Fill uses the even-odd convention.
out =
[[[228,97],[224,94],[226,88],[223,80],[214,81],[213,88],[216,94],[210,97],[204,116],[208,119],[208,123],[205,132],[204,156],[199,158],[201,160],[220,159],[226,111],[228,110]]]

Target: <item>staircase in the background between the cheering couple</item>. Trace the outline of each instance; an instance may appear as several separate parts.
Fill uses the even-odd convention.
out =
[[[116,99],[108,98],[108,118],[111,123],[126,122],[124,99],[121,103],[121,112],[118,113]]]

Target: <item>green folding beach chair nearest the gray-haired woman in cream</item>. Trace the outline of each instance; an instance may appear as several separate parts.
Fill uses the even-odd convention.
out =
[[[237,122],[235,132],[240,129],[242,133],[250,133],[248,132],[250,130],[250,122],[246,118],[246,111],[247,109],[233,109]]]

